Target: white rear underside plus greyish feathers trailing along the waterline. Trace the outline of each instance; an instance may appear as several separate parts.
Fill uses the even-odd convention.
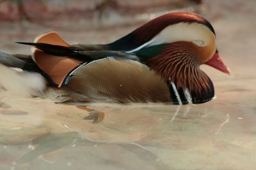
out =
[[[40,73],[17,71],[3,64],[0,64],[0,87],[18,96],[41,97],[56,102],[84,101],[86,99],[86,96],[74,90],[48,86],[47,80]]]

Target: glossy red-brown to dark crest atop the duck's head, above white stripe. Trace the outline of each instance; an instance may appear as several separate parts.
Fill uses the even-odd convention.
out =
[[[196,13],[167,13],[166,15],[157,17],[147,24],[138,27],[138,29],[127,34],[127,36],[124,36],[113,43],[109,43],[108,46],[111,50],[131,51],[150,41],[159,34],[159,32],[163,31],[164,28],[168,27],[168,25],[178,23],[203,24],[208,27],[213,34],[215,34],[212,25],[205,20],[205,18],[197,15]]]

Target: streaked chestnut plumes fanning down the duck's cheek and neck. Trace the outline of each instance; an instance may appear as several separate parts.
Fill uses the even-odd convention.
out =
[[[200,94],[210,89],[208,76],[200,70],[200,60],[196,56],[193,43],[178,41],[170,43],[159,55],[148,60],[148,66],[166,82],[173,81],[178,88],[188,88]]]

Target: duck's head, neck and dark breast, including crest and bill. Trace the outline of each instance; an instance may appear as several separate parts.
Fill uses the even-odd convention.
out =
[[[170,84],[178,103],[205,103],[214,97],[212,81],[200,65],[230,73],[220,59],[212,25],[195,13],[162,15],[109,46],[136,53]]]

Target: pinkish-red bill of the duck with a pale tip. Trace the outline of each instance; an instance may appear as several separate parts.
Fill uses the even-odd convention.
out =
[[[212,58],[205,62],[205,64],[212,66],[223,73],[230,74],[230,69],[228,69],[228,67],[225,66],[224,62],[220,59],[220,55],[218,52],[214,53]]]

